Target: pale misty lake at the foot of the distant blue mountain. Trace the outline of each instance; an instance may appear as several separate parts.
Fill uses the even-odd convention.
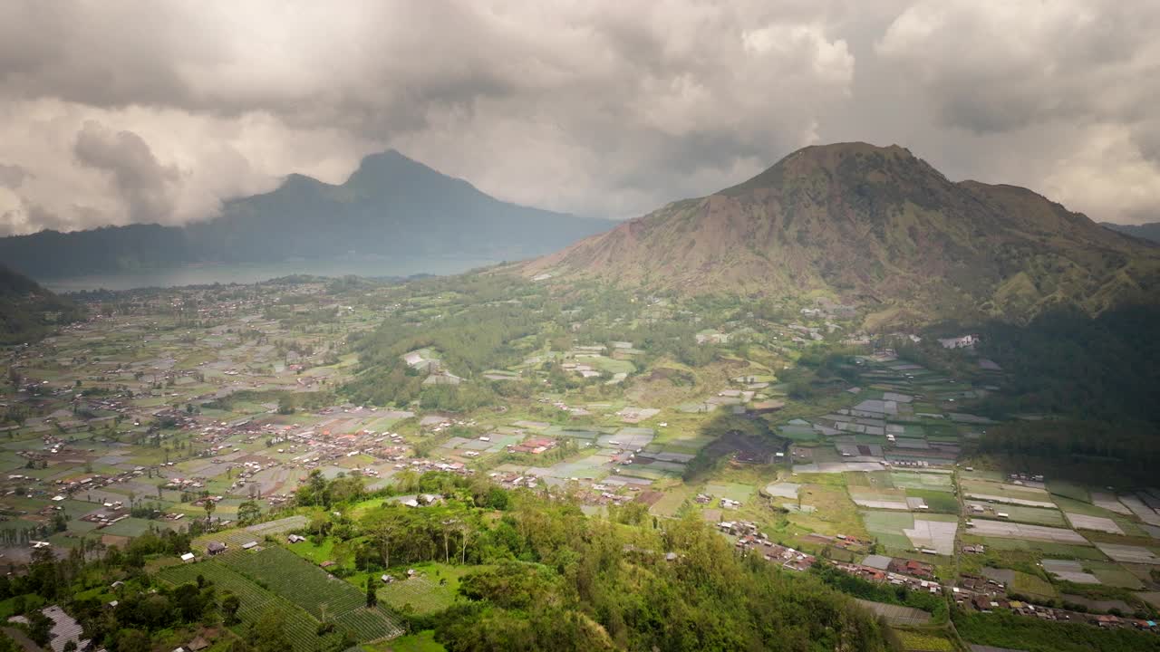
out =
[[[269,263],[204,263],[164,269],[110,271],[89,276],[37,278],[55,292],[81,290],[132,290],[135,288],[174,288],[211,283],[258,283],[292,274],[313,276],[411,276],[413,274],[459,274],[477,267],[495,265],[495,260],[463,258],[302,260]]]

